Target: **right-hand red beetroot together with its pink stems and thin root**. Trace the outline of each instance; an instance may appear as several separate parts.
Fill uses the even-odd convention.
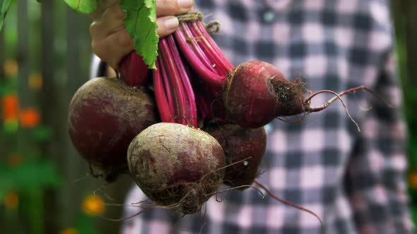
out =
[[[221,100],[224,107],[218,106],[225,109],[226,121],[232,121],[244,128],[260,128],[280,116],[322,111],[333,101],[341,99],[343,94],[349,92],[366,90],[374,93],[368,87],[360,86],[339,94],[322,90],[311,94],[310,97],[305,97],[303,82],[286,80],[282,73],[269,63],[250,61],[234,68],[206,31],[201,19],[202,15],[199,12],[189,12],[186,16],[180,16],[180,27],[174,35],[191,70],[204,83],[203,92],[207,90],[213,94],[214,98],[206,101],[204,106]],[[209,23],[209,25],[216,25],[216,23]],[[196,92],[201,92],[201,88],[198,89]],[[322,92],[334,94],[336,97],[322,106],[310,107],[312,97]],[[351,118],[346,104],[342,99],[341,101]],[[223,113],[223,110],[216,109],[216,111]],[[211,116],[223,118],[218,113],[210,115],[203,111],[200,114],[206,118]],[[353,121],[353,118],[351,119]],[[221,120],[220,123],[225,120]]]

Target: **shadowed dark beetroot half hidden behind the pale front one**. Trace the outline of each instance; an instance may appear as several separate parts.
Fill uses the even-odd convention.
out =
[[[264,128],[245,129],[239,125],[227,124],[216,128],[211,127],[206,131],[216,138],[223,147],[226,165],[241,161],[226,167],[223,183],[231,187],[252,185],[255,178],[259,176],[259,164],[265,154]],[[242,187],[241,190],[246,188]]]

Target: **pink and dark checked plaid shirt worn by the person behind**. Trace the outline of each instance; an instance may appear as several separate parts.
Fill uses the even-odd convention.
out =
[[[324,233],[412,233],[406,196],[406,128],[394,78],[392,25],[384,0],[200,0],[213,38],[235,65],[268,61],[309,90],[341,92],[367,85],[394,105],[364,92],[303,123],[274,121],[259,181],[279,197],[315,211]],[[331,96],[312,101],[319,106]],[[372,109],[365,110],[363,107]],[[212,197],[205,216],[153,209],[124,222],[122,233],[319,233],[317,219],[247,189]],[[126,204],[146,199],[135,185]],[[139,208],[126,207],[125,216]],[[204,211],[203,211],[204,212]]]

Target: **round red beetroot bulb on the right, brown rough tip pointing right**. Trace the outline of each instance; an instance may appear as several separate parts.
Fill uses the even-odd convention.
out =
[[[228,75],[222,99],[230,120],[244,128],[260,128],[279,116],[304,113],[303,83],[291,82],[262,61],[240,64]]]

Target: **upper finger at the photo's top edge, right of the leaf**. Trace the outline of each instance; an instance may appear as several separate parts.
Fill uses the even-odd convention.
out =
[[[193,0],[157,0],[156,16],[176,16],[192,8]]]

